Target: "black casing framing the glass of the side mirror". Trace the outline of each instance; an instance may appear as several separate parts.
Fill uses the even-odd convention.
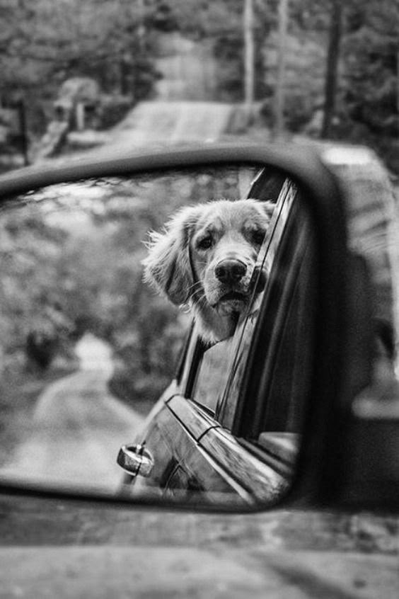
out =
[[[272,166],[301,186],[301,197],[308,204],[313,218],[318,251],[318,300],[316,307],[316,350],[311,378],[311,397],[306,408],[303,441],[296,464],[291,489],[279,505],[337,506],[354,496],[360,506],[369,506],[371,496],[363,487],[364,496],[350,490],[357,450],[367,447],[367,439],[376,445],[383,443],[378,432],[381,422],[368,423],[357,435],[350,406],[354,394],[369,384],[371,338],[369,335],[369,277],[364,263],[347,249],[345,197],[337,177],[323,164],[316,152],[301,147],[223,146],[199,149],[178,149],[141,156],[119,156],[102,161],[69,161],[66,165],[48,164],[40,169],[29,167],[0,178],[0,202],[14,194],[26,193],[66,181],[82,178],[132,175],[205,164],[226,164],[232,161]],[[357,445],[359,439],[359,445]],[[353,445],[356,445],[355,447]],[[383,454],[381,451],[376,455]],[[352,460],[352,455],[354,458]],[[37,489],[0,486],[3,493],[41,495]],[[349,489],[349,490],[348,490]],[[395,490],[397,494],[398,489]],[[375,494],[372,504],[378,506],[381,496]],[[48,496],[69,496],[75,499],[93,496],[54,491]],[[391,494],[393,498],[393,494]],[[397,497],[397,495],[396,495]],[[95,498],[94,498],[95,499]],[[97,497],[98,501],[111,501]],[[112,503],[126,504],[129,498],[116,497]],[[134,505],[151,506],[151,499],[137,498]],[[156,503],[156,506],[159,504]],[[398,503],[396,501],[396,508]],[[167,501],[164,507],[175,507]],[[191,510],[190,503],[187,509]],[[179,506],[179,508],[185,506]],[[391,503],[391,507],[394,507]],[[212,510],[212,506],[199,506]],[[238,508],[226,510],[237,511]],[[242,510],[242,509],[241,509]]]

